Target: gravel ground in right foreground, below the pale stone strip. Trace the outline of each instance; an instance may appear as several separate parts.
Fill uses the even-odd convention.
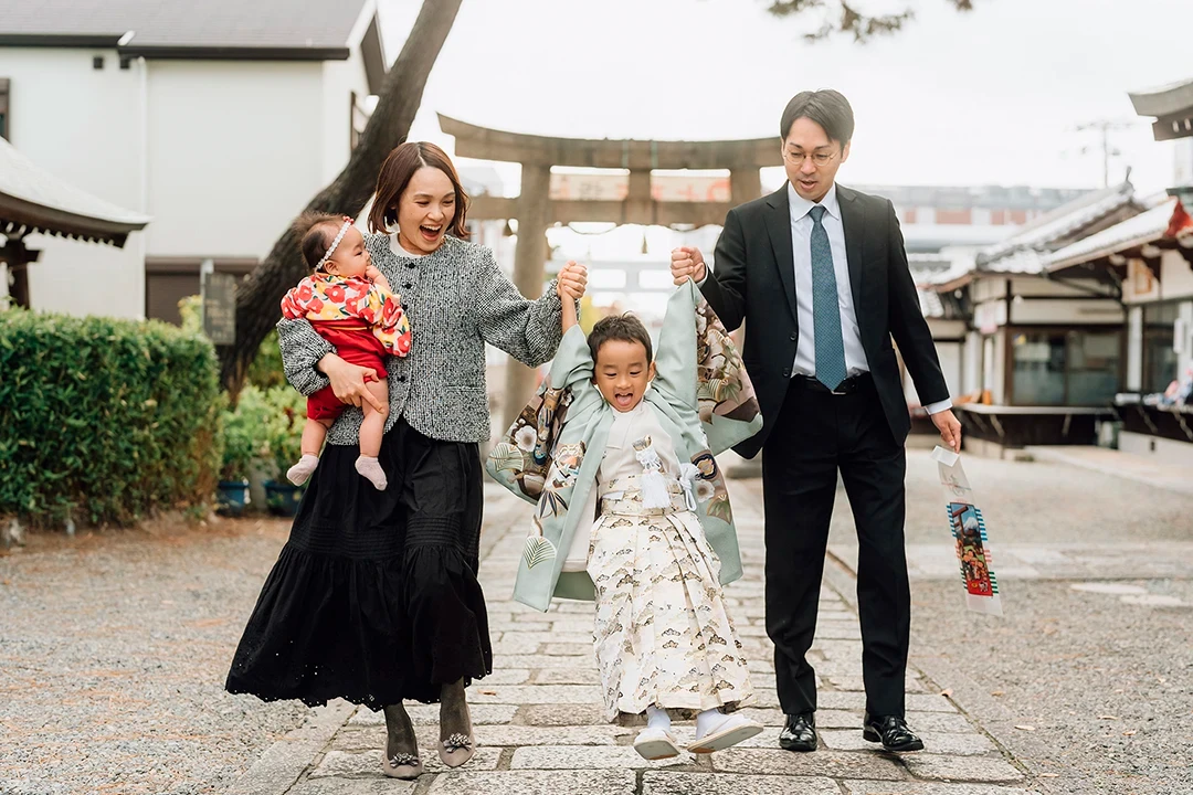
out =
[[[1193,583],[1117,584],[1186,607],[1019,582],[1013,609],[995,619],[960,609],[957,583],[914,583],[911,662],[931,666],[1046,791],[1187,795]]]

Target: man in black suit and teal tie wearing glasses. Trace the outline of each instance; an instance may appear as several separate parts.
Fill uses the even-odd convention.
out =
[[[779,745],[816,749],[816,675],[806,653],[840,471],[858,529],[863,737],[916,751],[923,743],[904,720],[903,687],[911,601],[903,445],[911,422],[891,337],[954,451],[960,423],[894,206],[834,182],[852,136],[853,110],[840,93],[796,95],[780,123],[789,182],[729,211],[716,271],[698,249],[680,248],[672,275],[696,280],[730,330],[746,321],[742,358],[765,424],[735,449],[746,458],[764,452],[766,629],[786,713]]]

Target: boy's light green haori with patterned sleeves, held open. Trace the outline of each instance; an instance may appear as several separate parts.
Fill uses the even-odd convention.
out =
[[[721,583],[742,576],[737,530],[713,455],[762,428],[762,414],[736,344],[692,281],[667,302],[643,399],[670,436],[679,460],[696,466],[696,515],[721,559]],[[486,464],[489,474],[534,503],[518,564],[514,598],[546,610],[552,596],[593,600],[585,571],[596,517],[596,473],[614,410],[593,384],[580,327],[560,344],[551,372]]]

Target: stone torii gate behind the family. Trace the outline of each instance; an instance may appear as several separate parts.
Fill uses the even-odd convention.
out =
[[[546,230],[555,223],[606,222],[670,226],[721,224],[730,207],[762,194],[759,169],[781,166],[777,136],[749,141],[611,141],[552,138],[503,132],[439,114],[439,128],[456,138],[462,157],[521,163],[521,194],[481,195],[469,205],[476,221],[518,219],[514,284],[524,296],[543,291]],[[624,200],[551,199],[551,167],[611,168],[630,172]],[[729,170],[729,201],[659,201],[651,197],[650,173]],[[502,417],[508,427],[530,399],[534,373],[509,361]]]

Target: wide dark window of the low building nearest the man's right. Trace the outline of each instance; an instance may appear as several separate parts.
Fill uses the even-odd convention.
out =
[[[1107,405],[1119,390],[1119,329],[1020,331],[1012,336],[1014,405]]]

